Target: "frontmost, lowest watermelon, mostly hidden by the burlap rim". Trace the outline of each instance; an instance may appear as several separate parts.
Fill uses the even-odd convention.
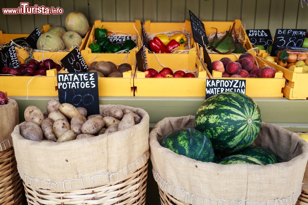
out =
[[[231,155],[220,160],[218,164],[257,164],[265,165],[261,160],[246,155]]]

